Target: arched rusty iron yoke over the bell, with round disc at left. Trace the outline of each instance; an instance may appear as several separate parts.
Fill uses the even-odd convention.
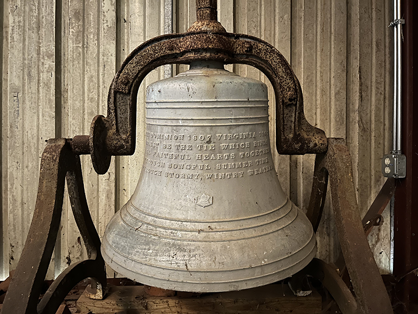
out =
[[[171,63],[216,60],[252,65],[273,86],[276,98],[276,148],[279,154],[319,154],[327,150],[325,132],[303,113],[300,84],[280,52],[267,42],[234,33],[184,33],[153,38],[136,48],[113,79],[107,117],[96,116],[90,128],[90,152],[96,172],[105,173],[110,156],[135,151],[136,99],[145,76]]]

